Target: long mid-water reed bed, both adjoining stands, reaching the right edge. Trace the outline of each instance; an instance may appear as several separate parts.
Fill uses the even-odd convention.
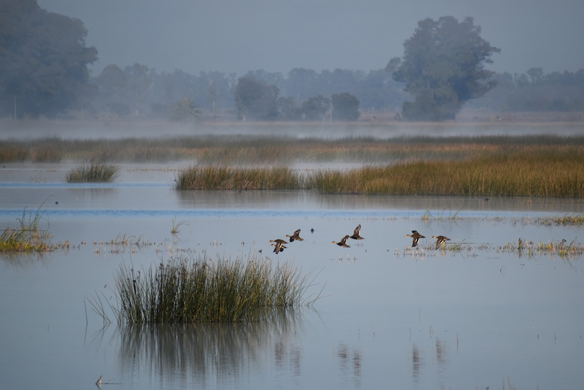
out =
[[[309,172],[282,166],[195,166],[178,173],[175,189],[315,189],[326,194],[582,197],[582,166],[584,153],[579,151],[552,157],[518,152],[512,156],[483,156],[465,161],[413,161]],[[456,219],[456,214],[449,218]]]

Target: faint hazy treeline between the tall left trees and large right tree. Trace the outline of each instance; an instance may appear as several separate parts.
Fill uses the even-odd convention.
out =
[[[290,105],[300,107],[312,97],[327,99],[335,93],[348,92],[359,99],[360,109],[394,112],[408,98],[402,84],[395,82],[384,69],[377,71],[315,72],[311,69],[294,68],[288,74],[281,72],[250,71],[243,78],[256,79],[273,86],[279,97],[278,119],[286,119],[284,111]],[[96,86],[92,107],[96,114],[117,116],[164,117],[169,107],[183,97],[210,115],[232,110],[235,115],[235,90],[239,80],[236,74],[200,72],[192,75],[185,71],[158,73],[145,65],[124,67],[108,65],[90,82]],[[276,118],[274,118],[276,119]]]

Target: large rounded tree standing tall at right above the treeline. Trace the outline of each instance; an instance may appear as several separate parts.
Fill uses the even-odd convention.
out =
[[[481,27],[472,18],[460,23],[453,16],[420,20],[404,43],[403,57],[392,58],[386,68],[415,97],[404,103],[405,119],[453,119],[464,102],[495,87],[495,72],[484,66],[499,52],[481,38]]]

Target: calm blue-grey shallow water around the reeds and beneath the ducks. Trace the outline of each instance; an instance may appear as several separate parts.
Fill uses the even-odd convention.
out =
[[[71,247],[0,255],[2,387],[83,388],[103,375],[104,387],[135,389],[584,388],[582,259],[503,249],[583,241],[580,227],[537,222],[582,214],[582,201],[175,191],[169,169],[66,184],[55,167],[7,168],[0,228],[40,207],[52,242]],[[188,225],[172,235],[173,220]],[[358,224],[364,240],[330,243]],[[305,241],[274,255],[269,240],[298,228]],[[413,249],[412,229],[426,236]],[[440,234],[462,249],[432,249]],[[314,307],[260,323],[104,328],[85,299],[109,299],[120,264],[259,250],[311,273]]]

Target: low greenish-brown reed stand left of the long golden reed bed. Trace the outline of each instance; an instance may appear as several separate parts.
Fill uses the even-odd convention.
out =
[[[176,177],[177,190],[277,190],[303,187],[301,175],[284,166],[235,168],[191,166]]]

